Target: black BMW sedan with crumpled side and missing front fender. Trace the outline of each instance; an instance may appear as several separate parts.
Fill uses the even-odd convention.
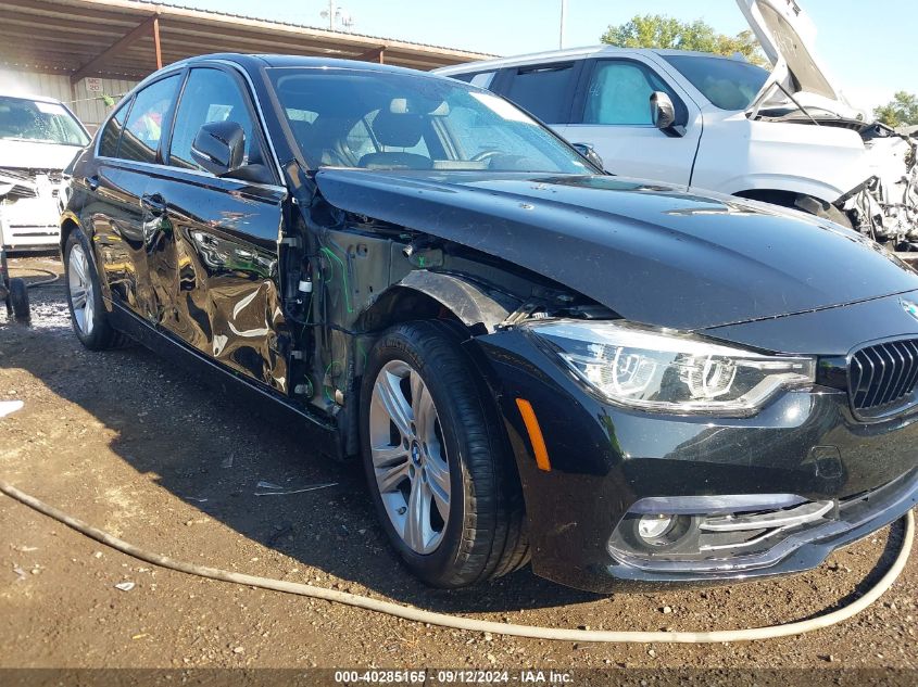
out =
[[[606,175],[453,79],[173,64],[75,164],[61,249],[84,345],[128,335],[360,456],[431,585],[792,573],[918,500],[918,275]]]

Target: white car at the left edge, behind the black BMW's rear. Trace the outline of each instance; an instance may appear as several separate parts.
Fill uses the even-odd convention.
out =
[[[0,92],[0,242],[5,249],[58,246],[64,169],[89,140],[60,101]]]

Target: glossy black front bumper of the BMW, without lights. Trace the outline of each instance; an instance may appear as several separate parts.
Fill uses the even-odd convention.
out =
[[[753,418],[653,415],[605,404],[519,330],[476,341],[526,497],[537,574],[592,591],[715,585],[796,573],[918,505],[918,412],[864,424],[847,394],[787,392]],[[517,398],[539,420],[539,469]],[[641,499],[791,494],[831,501],[817,522],[781,531],[765,556],[642,563],[609,550]],[[759,551],[760,552],[760,551]]]

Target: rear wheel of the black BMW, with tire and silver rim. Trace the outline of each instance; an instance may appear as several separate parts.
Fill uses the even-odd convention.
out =
[[[71,231],[64,246],[64,284],[71,323],[84,346],[90,351],[108,351],[130,342],[108,322],[92,251],[86,234],[78,228]]]

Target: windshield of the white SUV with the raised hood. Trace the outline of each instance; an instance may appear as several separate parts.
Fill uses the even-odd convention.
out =
[[[766,69],[740,60],[701,55],[664,59],[721,110],[746,110],[768,79]]]

